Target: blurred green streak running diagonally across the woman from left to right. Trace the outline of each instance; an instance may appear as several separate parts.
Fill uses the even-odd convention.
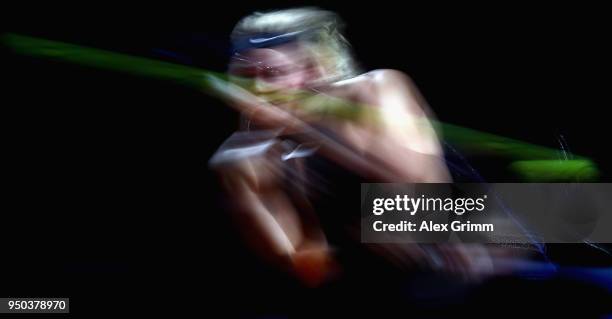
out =
[[[88,48],[59,41],[39,39],[17,34],[5,34],[2,42],[22,55],[47,58],[83,66],[107,69],[137,76],[173,81],[207,93],[216,93],[214,87],[227,83],[226,74],[202,70],[180,64],[157,61],[101,49]],[[215,82],[215,83],[212,83]],[[278,95],[276,99],[303,98],[304,93],[292,96]],[[337,99],[321,106],[307,103],[308,113],[332,115],[346,120],[363,116],[376,118],[372,108]],[[331,105],[330,105],[331,104]],[[495,155],[513,159],[510,169],[527,181],[595,180],[599,176],[596,165],[589,159],[574,156],[574,160],[561,161],[557,149],[534,145],[519,140],[480,132],[453,124],[434,122],[444,139],[463,152],[477,155]]]

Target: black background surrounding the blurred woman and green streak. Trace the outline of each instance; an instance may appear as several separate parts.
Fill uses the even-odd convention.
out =
[[[405,71],[440,120],[552,148],[563,135],[610,181],[602,10],[306,4],[338,12],[364,70]],[[222,72],[239,18],[288,5],[224,6],[203,10],[189,31],[8,32]],[[69,296],[73,313],[134,310],[164,296],[198,303],[206,293],[267,309],[233,297],[265,294],[254,287],[267,269],[237,238],[207,169],[236,129],[233,111],[178,84],[2,50],[0,295]],[[504,159],[472,160],[488,181],[514,181]],[[549,252],[568,265],[606,262],[580,245]]]

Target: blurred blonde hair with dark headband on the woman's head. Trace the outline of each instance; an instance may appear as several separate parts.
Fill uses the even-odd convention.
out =
[[[333,82],[358,72],[343,27],[337,14],[315,7],[255,12],[238,22],[231,40],[236,45],[257,34],[291,35],[325,70],[321,81]]]

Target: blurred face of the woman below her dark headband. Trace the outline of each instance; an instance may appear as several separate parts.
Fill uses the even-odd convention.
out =
[[[320,72],[309,62],[304,50],[295,46],[253,49],[240,54],[235,60],[230,72],[250,79],[252,82],[248,89],[262,97],[291,94],[320,77]]]

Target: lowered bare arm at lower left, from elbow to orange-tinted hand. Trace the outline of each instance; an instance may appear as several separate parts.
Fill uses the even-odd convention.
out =
[[[306,218],[307,207],[298,212],[283,191],[274,166],[261,158],[220,171],[237,225],[260,256],[309,286],[319,285],[334,268],[330,249],[318,223]]]

